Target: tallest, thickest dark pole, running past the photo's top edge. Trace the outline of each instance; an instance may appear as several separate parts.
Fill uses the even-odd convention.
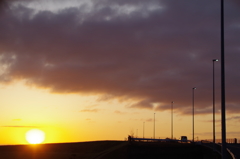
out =
[[[225,59],[224,59],[224,0],[221,0],[221,121],[222,159],[226,159],[226,116],[225,116]]]

